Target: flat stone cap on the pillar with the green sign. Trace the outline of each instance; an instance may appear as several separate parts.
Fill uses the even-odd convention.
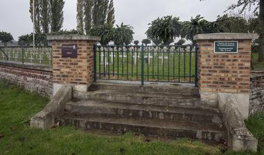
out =
[[[195,35],[193,40],[252,40],[257,38],[257,33],[208,33]]]

